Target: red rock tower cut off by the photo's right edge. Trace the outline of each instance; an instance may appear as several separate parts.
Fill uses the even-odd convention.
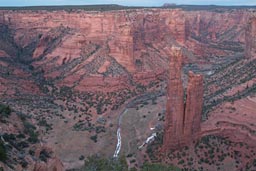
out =
[[[256,58],[256,17],[251,18],[245,31],[245,57]]]

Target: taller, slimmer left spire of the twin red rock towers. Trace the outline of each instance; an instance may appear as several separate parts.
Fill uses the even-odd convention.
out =
[[[163,149],[167,150],[180,145],[183,138],[184,90],[182,86],[182,53],[172,48],[170,55],[170,73],[167,86],[167,104],[164,126]]]

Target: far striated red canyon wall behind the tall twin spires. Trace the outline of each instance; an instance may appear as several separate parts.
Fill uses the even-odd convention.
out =
[[[55,85],[86,90],[95,77],[96,87],[104,88],[102,77],[155,77],[152,73],[168,68],[163,49],[172,45],[186,49],[184,63],[242,52],[250,16],[249,10],[1,10],[0,24],[10,30],[12,49],[1,48],[0,55],[16,52]]]

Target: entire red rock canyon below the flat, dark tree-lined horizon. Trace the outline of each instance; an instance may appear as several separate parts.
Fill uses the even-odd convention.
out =
[[[206,140],[242,154],[222,170],[255,168],[255,8],[111,8],[0,8],[0,168],[81,168],[119,128],[130,168],[209,169]]]

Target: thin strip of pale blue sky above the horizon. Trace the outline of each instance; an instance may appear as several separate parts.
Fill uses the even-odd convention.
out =
[[[161,6],[164,3],[191,5],[256,5],[256,0],[0,0],[0,6],[92,5]]]

